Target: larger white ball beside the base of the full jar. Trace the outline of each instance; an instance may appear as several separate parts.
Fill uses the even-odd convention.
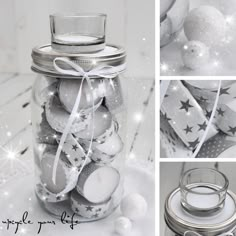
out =
[[[140,194],[133,193],[122,200],[120,208],[124,216],[137,220],[146,215],[147,202]]]

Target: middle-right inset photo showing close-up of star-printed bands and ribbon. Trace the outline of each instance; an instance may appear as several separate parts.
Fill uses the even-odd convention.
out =
[[[161,158],[234,158],[236,80],[163,80]]]

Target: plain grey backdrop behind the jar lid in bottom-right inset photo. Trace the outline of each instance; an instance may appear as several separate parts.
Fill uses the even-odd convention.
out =
[[[179,186],[182,173],[192,168],[213,168],[223,172],[229,179],[229,189],[236,193],[236,163],[231,162],[162,162],[160,163],[160,235],[164,236],[164,204],[168,194]]]

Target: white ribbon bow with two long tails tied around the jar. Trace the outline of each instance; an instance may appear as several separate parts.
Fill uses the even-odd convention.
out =
[[[65,63],[67,66],[70,66],[72,69],[63,69],[62,67],[60,67],[58,62],[60,64]],[[91,77],[102,77],[102,78],[107,78],[107,79],[115,78],[119,73],[121,73],[122,71],[125,70],[126,65],[125,64],[122,64],[119,66],[99,65],[89,71],[85,71],[80,65],[76,64],[76,62],[71,61],[66,57],[58,57],[58,58],[54,59],[53,66],[61,74],[73,75],[73,76],[79,77],[81,79],[81,85],[80,85],[80,88],[79,88],[79,91],[78,91],[78,94],[76,97],[76,101],[75,101],[74,107],[72,109],[72,112],[70,114],[70,117],[67,121],[67,124],[65,126],[65,129],[62,133],[61,140],[60,140],[60,143],[59,143],[59,146],[58,146],[58,149],[56,152],[54,164],[53,164],[52,180],[53,180],[53,183],[56,184],[56,171],[57,171],[57,166],[58,166],[60,154],[62,152],[62,147],[64,145],[66,137],[70,132],[71,125],[73,124],[76,116],[78,115],[77,111],[78,111],[78,108],[80,105],[80,99],[81,99],[81,95],[82,95],[82,87],[83,87],[84,80],[87,81],[87,83],[90,87],[90,91],[91,91],[92,108],[93,108],[92,109],[92,133],[91,133],[91,139],[90,139],[90,145],[88,148],[88,152],[86,153],[86,158],[82,164],[82,167],[79,170],[78,175],[80,175],[81,171],[83,170],[83,168],[89,158],[89,154],[91,153],[92,143],[93,143],[93,139],[94,139],[94,97],[93,97],[92,85],[91,85],[90,78]]]

